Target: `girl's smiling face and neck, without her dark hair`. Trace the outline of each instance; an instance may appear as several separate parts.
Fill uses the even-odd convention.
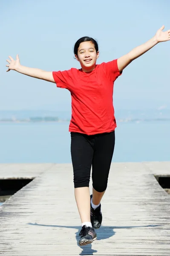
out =
[[[95,45],[91,41],[82,42],[78,47],[78,55],[75,54],[84,72],[94,70],[98,56],[99,52],[96,52]]]

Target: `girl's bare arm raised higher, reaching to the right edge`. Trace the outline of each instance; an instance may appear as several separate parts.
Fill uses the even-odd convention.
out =
[[[156,35],[151,38],[146,43],[135,47],[132,51],[127,53],[126,55],[122,56],[121,58],[118,58],[118,69],[121,72],[124,70],[127,65],[129,65],[133,60],[150,50],[152,47],[154,47],[159,42],[165,42],[170,40],[170,29],[166,32],[163,32],[164,26],[162,26],[158,31],[156,32]]]

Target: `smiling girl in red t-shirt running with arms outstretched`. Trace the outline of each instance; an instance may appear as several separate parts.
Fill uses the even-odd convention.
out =
[[[110,164],[115,145],[116,121],[112,102],[114,81],[127,65],[158,42],[170,40],[170,30],[162,26],[145,44],[134,48],[121,58],[96,64],[98,44],[93,38],[80,38],[74,47],[81,69],[46,72],[20,65],[9,56],[8,70],[56,83],[72,96],[71,156],[74,172],[75,200],[81,217],[80,245],[97,239],[96,228],[101,226],[101,198],[107,188]],[[89,195],[92,166],[92,195]]]

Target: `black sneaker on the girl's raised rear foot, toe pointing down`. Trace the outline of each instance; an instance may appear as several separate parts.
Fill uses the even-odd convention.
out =
[[[92,199],[92,195],[90,195],[90,200]],[[92,223],[92,227],[98,229],[101,226],[102,222],[102,214],[101,214],[101,204],[95,210],[92,208],[90,203],[90,220]]]

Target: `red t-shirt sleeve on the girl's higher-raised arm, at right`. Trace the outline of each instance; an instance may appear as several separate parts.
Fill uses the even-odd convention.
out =
[[[122,74],[122,71],[118,70],[118,59],[104,63],[104,70],[113,82]]]

